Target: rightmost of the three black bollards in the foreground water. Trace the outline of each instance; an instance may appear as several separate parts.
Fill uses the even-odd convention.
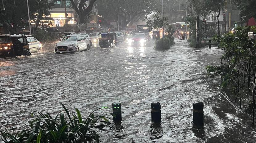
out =
[[[193,124],[196,126],[204,126],[204,103],[193,103]]]

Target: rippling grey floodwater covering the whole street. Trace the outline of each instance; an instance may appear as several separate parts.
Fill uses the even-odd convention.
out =
[[[111,113],[122,102],[122,128],[99,131],[101,142],[255,142],[251,118],[235,107],[209,79],[205,67],[219,64],[217,48],[190,48],[175,41],[171,49],[120,45],[54,54],[52,48],[29,57],[0,60],[0,130],[24,126],[29,113],[62,107],[87,116]],[[192,125],[193,102],[204,102],[204,129]],[[161,103],[161,126],[153,127],[151,102]],[[110,116],[109,116],[110,117]],[[11,132],[11,131],[10,131]]]

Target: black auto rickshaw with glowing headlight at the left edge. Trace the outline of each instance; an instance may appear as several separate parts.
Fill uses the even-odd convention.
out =
[[[0,35],[0,55],[5,57],[31,56],[27,37],[20,35]]]

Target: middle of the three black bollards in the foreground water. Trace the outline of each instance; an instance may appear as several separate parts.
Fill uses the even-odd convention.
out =
[[[161,104],[159,102],[151,103],[151,121],[155,123],[161,122]]]

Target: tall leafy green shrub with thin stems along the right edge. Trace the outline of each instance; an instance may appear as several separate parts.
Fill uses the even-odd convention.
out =
[[[248,32],[256,32],[256,27],[238,27],[235,34],[213,37],[213,40],[220,43],[219,47],[224,51],[224,55],[221,56],[221,66],[206,68],[211,78],[221,75],[221,87],[230,86],[235,101],[240,95],[240,108],[241,93],[252,93],[256,71],[256,41],[248,37]]]

